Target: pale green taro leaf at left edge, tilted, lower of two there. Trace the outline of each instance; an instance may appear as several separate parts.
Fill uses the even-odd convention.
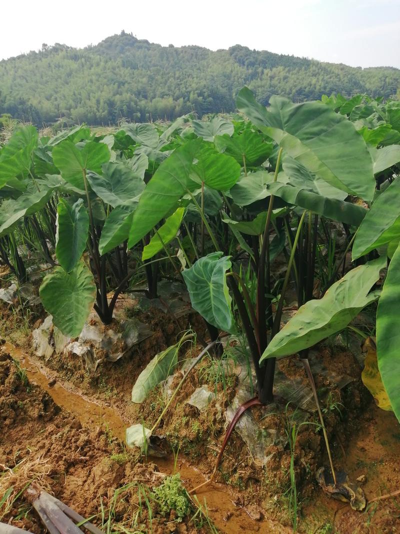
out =
[[[43,187],[40,191],[34,189],[23,193],[17,200],[4,202],[0,215],[0,237],[11,232],[13,225],[22,217],[28,217],[44,208],[52,194],[52,188]]]

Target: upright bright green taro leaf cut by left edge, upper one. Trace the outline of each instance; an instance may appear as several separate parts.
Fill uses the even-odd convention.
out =
[[[37,139],[38,133],[33,126],[23,126],[14,131],[0,151],[0,187],[30,169]]]

